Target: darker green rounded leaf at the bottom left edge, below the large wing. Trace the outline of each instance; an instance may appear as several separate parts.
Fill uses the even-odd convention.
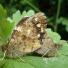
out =
[[[28,63],[16,61],[16,60],[7,60],[2,68],[34,68]]]

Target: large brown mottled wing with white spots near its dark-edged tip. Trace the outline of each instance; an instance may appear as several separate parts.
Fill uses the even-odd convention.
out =
[[[22,56],[41,48],[46,26],[46,16],[42,12],[21,20],[4,48],[7,56]]]

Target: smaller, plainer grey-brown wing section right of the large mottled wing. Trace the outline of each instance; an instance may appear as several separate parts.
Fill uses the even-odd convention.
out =
[[[42,39],[42,46],[35,52],[41,54],[42,56],[53,57],[57,55],[58,46],[53,42],[53,40],[47,35]]]

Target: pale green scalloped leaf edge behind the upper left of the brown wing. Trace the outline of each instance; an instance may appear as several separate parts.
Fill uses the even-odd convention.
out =
[[[33,10],[29,10],[28,12],[23,11],[22,14],[21,12],[18,10],[13,14],[13,21],[15,23],[18,23],[23,17],[30,17],[32,15],[34,15],[35,12]]]

